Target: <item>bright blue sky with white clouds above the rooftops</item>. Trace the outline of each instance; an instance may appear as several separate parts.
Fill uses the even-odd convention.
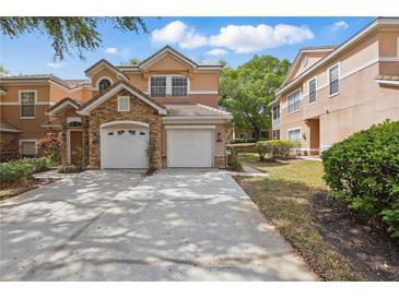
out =
[[[129,58],[144,59],[165,44],[198,62],[226,60],[237,67],[254,55],[272,55],[292,61],[305,46],[341,44],[373,17],[145,17],[149,34],[115,31],[102,23],[103,43],[86,51],[54,61],[50,39],[28,34],[0,36],[0,63],[11,74],[54,73],[62,79],[84,77],[84,70],[105,58],[119,64]]]

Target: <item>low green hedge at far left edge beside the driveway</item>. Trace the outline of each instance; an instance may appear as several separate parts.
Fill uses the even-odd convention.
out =
[[[11,182],[19,179],[28,179],[33,174],[43,171],[52,165],[49,157],[25,158],[0,164],[0,181]]]

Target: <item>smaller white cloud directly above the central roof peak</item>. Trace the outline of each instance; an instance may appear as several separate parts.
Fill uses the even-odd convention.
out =
[[[180,21],[174,21],[161,29],[151,33],[156,44],[177,44],[183,49],[193,49],[207,44],[207,37],[188,27]]]

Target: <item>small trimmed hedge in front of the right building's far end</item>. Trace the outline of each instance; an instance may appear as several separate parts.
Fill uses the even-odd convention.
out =
[[[289,158],[290,156],[295,156],[296,148],[298,147],[301,147],[298,142],[289,140],[267,140],[258,141],[256,143],[256,150],[260,160],[263,160],[267,154],[272,158]],[[295,151],[294,154],[292,153],[293,151]]]

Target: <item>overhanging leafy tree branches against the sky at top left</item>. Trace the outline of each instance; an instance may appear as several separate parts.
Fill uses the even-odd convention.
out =
[[[84,50],[96,50],[102,43],[102,34],[98,32],[101,22],[112,22],[119,31],[139,33],[142,29],[148,33],[142,17],[0,17],[0,32],[10,37],[17,37],[26,33],[40,33],[52,40],[55,50],[54,59],[63,60],[66,53],[70,55],[75,48],[79,58],[84,59]]]

